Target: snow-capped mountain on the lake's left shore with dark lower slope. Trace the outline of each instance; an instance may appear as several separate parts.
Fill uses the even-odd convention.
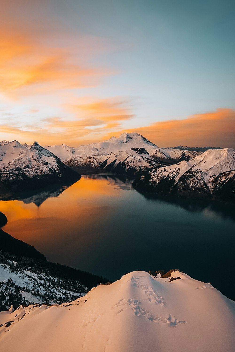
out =
[[[0,190],[19,191],[60,181],[78,180],[80,175],[37,142],[20,144],[16,140],[0,143]]]

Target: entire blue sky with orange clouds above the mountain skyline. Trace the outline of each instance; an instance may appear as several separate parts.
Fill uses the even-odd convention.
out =
[[[235,148],[234,1],[0,5],[0,140]]]

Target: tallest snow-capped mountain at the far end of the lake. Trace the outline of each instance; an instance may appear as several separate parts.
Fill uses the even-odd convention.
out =
[[[114,172],[140,174],[147,169],[189,160],[196,152],[162,149],[138,133],[122,133],[120,137],[79,147],[65,144],[46,146],[61,161],[81,174]]]

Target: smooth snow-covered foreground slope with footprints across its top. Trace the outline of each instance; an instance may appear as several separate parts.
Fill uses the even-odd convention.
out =
[[[2,352],[234,352],[235,302],[174,271],[134,271],[70,304],[0,313]]]

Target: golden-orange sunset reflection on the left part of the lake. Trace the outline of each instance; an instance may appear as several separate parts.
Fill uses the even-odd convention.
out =
[[[59,252],[69,251],[71,243],[68,245],[67,241],[73,241],[75,246],[80,243],[84,248],[90,245],[84,237],[89,234],[94,244],[100,222],[113,212],[113,207],[107,206],[107,196],[115,205],[115,201],[125,197],[125,192],[117,190],[117,184],[105,178],[83,176],[39,207],[22,200],[1,201],[0,211],[8,219],[2,230],[33,245],[45,256],[51,246]]]

